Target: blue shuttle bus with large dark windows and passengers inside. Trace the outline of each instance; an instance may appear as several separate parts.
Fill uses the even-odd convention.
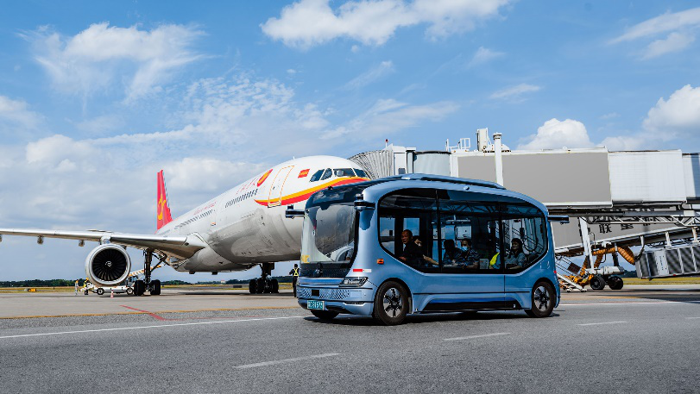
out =
[[[296,212],[301,215],[302,212]],[[559,304],[547,209],[478,180],[410,174],[328,188],[303,211],[299,304],[320,319]]]

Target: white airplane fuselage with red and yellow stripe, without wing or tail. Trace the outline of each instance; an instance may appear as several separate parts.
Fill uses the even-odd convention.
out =
[[[326,169],[331,176],[312,181]],[[332,156],[290,160],[192,209],[156,234],[196,235],[208,245],[188,259],[171,261],[178,271],[239,271],[260,263],[297,260],[303,220],[285,218],[287,206],[303,209],[318,190],[367,180],[353,169],[359,166]]]

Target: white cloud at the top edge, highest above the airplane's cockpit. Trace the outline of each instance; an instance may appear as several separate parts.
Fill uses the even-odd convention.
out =
[[[260,27],[285,45],[309,48],[337,38],[382,45],[400,27],[428,24],[426,34],[439,38],[473,30],[498,15],[510,0],[347,1],[337,10],[329,0],[301,0],[282,9]],[[354,50],[354,49],[353,49]]]

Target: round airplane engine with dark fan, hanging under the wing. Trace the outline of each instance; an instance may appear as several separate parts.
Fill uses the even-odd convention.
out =
[[[100,245],[85,259],[85,275],[95,285],[118,285],[129,276],[129,272],[131,258],[119,245]]]

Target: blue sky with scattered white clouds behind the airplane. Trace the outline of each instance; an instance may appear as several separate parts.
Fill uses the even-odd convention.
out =
[[[512,148],[696,152],[699,29],[693,1],[8,4],[0,227],[150,233],[161,168],[177,215],[293,156],[480,127]],[[6,237],[0,278],[82,276],[87,252]]]

